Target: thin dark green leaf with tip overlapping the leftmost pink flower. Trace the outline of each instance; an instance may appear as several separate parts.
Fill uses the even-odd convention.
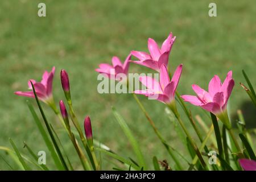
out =
[[[52,139],[53,146],[55,147],[55,149],[57,151],[57,154],[59,155],[60,161],[61,161],[61,163],[63,165],[63,169],[68,170],[68,166],[65,163],[65,160],[63,158],[63,155],[61,154],[59,146],[57,146],[57,142],[56,142],[56,140],[54,138],[54,135],[52,134],[51,127],[49,126],[49,123],[48,123],[48,121],[46,119],[46,115],[44,114],[44,111],[43,111],[42,106],[41,106],[41,104],[39,102],[38,96],[36,95],[34,84],[31,81],[30,81],[30,83],[31,83],[31,86],[32,86],[32,89],[33,89],[33,92],[34,92],[34,95],[35,95],[36,103],[38,104],[40,113],[41,113],[41,115],[43,117],[44,123],[46,124],[47,131],[48,131],[48,133],[49,133],[49,135],[50,135],[50,137]]]

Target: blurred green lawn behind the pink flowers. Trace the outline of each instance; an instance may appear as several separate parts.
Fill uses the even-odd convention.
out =
[[[38,3],[46,3],[46,17],[38,16]],[[208,16],[210,2],[217,4],[217,17]],[[35,152],[46,150],[43,139],[26,105],[27,98],[13,94],[27,90],[27,80],[40,80],[44,70],[56,67],[53,82],[55,101],[64,100],[59,72],[69,73],[72,99],[79,121],[90,115],[94,138],[105,143],[118,154],[135,158],[130,144],[115,121],[111,106],[115,106],[139,140],[144,156],[151,163],[152,156],[172,160],[159,143],[138,105],[129,94],[98,94],[98,64],[110,63],[116,55],[124,60],[135,49],[147,51],[147,38],[159,44],[173,32],[176,42],[172,48],[171,71],[184,64],[178,91],[193,94],[196,83],[207,89],[213,75],[224,80],[232,69],[236,82],[229,101],[230,113],[238,108],[247,111],[247,122],[255,122],[255,110],[239,85],[245,82],[242,69],[255,79],[256,57],[256,1],[0,1],[0,146],[8,146],[11,137],[20,151],[26,141]],[[152,72],[131,64],[130,72]],[[177,150],[183,146],[177,140],[171,122],[164,113],[165,106],[139,96],[168,143]],[[35,105],[35,101],[30,99]],[[36,105],[35,105],[36,106]],[[51,109],[43,105],[48,119],[57,128],[61,125]],[[193,114],[204,115],[189,105]],[[234,119],[233,119],[234,120]],[[191,128],[188,120],[185,124]],[[255,124],[254,124],[255,125]],[[191,130],[192,131],[192,130]],[[67,136],[58,132],[65,150],[76,169],[81,169]],[[4,152],[0,154],[11,164]],[[48,153],[47,153],[48,154]],[[103,159],[109,159],[102,156]],[[52,163],[51,160],[47,163]],[[103,160],[111,169],[109,160]],[[152,165],[151,165],[152,166]],[[0,169],[9,169],[0,158]]]

